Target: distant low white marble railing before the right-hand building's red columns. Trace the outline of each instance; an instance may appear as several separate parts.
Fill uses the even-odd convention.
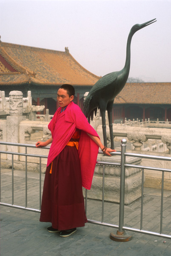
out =
[[[168,121],[168,119],[165,121],[159,121],[159,119],[157,118],[156,121],[150,121],[150,119],[148,118],[145,119],[145,121],[140,121],[138,118],[135,121],[135,119],[133,119],[133,121],[131,121],[130,119],[126,119],[125,118],[125,122],[123,124],[123,122],[120,123],[120,125],[127,125],[127,126],[131,126],[131,127],[154,127],[154,128],[171,128],[171,122]]]

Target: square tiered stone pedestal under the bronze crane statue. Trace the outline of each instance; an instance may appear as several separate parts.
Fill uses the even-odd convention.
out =
[[[99,161],[120,163],[120,156],[107,157],[98,155]],[[126,157],[126,163],[140,165],[141,158]],[[102,200],[103,166],[97,165],[94,171],[91,190],[88,190],[88,198]],[[141,197],[142,172],[137,168],[125,169],[125,204]],[[120,167],[105,166],[105,194],[104,200],[120,202]]]

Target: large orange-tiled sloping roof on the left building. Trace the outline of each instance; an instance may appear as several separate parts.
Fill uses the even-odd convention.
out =
[[[99,76],[82,67],[69,53],[0,42],[1,85],[92,86]]]

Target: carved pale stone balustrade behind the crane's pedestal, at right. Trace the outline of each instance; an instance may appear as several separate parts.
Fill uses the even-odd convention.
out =
[[[125,137],[128,141],[132,142],[132,148],[130,152],[137,151],[137,153],[158,155],[158,156],[171,156],[171,130],[165,128],[141,128],[141,127],[129,127],[113,125],[114,140],[121,141]],[[106,127],[108,141],[110,138],[109,128]],[[97,126],[97,133],[100,139],[103,141],[102,126]],[[154,142],[154,143],[151,143]],[[144,149],[146,143],[147,148]],[[155,145],[152,145],[155,144]],[[115,148],[120,150],[120,148]],[[165,169],[171,169],[171,161],[162,160],[150,160],[142,158],[142,166],[159,167]],[[162,173],[158,171],[145,170],[145,187],[161,188]],[[164,177],[164,189],[171,190],[171,174],[165,172]]]

